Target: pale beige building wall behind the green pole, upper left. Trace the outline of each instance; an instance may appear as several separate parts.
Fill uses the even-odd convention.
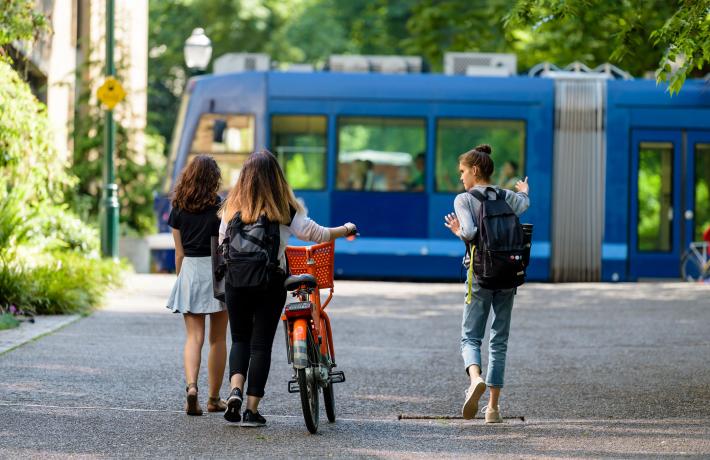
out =
[[[148,111],[148,0],[115,0],[114,4],[114,55],[125,67],[121,83],[127,92],[115,109],[116,119],[133,128],[131,145],[142,152]],[[82,75],[91,85],[92,104],[98,104],[96,90],[105,78],[106,0],[36,0],[36,5],[47,16],[51,31],[31,45],[18,43],[16,48],[26,58],[21,73],[47,103],[54,143],[66,156],[73,146],[75,109],[86,109],[76,107],[83,84],[76,78],[77,69],[85,62],[96,63]]]

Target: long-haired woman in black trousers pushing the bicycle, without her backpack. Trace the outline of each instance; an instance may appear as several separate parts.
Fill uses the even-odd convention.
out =
[[[280,270],[271,276],[268,287],[265,290],[237,288],[229,283],[229,277],[225,283],[232,349],[229,353],[231,392],[224,418],[230,422],[241,419],[242,426],[264,426],[266,420],[259,414],[258,407],[269,376],[274,334],[286,302],[283,284],[288,239],[294,235],[304,241],[322,243],[353,233],[355,225],[348,222],[340,227],[326,228],[309,219],[303,206],[296,201],[276,157],[268,151],[249,156],[222,205],[221,215],[220,242],[225,238],[229,222],[237,215],[244,224],[254,223],[260,216],[279,223]],[[242,416],[239,411],[245,381],[248,399]]]

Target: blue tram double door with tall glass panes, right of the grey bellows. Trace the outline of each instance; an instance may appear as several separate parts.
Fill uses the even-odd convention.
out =
[[[680,257],[710,225],[710,132],[634,130],[629,271],[680,276]]]

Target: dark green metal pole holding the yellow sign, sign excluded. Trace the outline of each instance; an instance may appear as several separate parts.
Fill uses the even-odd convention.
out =
[[[106,76],[113,76],[113,1],[106,0]],[[118,259],[118,185],[113,171],[115,145],[113,111],[106,110],[104,126],[104,193],[103,219],[101,219],[101,253],[104,257]]]

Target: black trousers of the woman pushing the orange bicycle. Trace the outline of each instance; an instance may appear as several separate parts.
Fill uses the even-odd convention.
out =
[[[272,276],[266,290],[225,286],[232,349],[229,352],[229,377],[246,377],[249,396],[261,398],[271,367],[271,347],[286,303],[285,276]]]

